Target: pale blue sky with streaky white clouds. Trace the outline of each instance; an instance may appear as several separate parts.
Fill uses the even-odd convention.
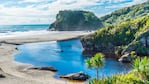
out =
[[[98,17],[147,0],[0,0],[0,25],[49,24],[60,10],[86,10]]]

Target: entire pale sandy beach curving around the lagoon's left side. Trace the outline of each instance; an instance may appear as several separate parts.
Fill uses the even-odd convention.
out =
[[[15,44],[67,40],[86,34],[89,32],[67,31],[0,38],[0,74],[5,76],[0,78],[0,84],[84,84],[55,79],[51,71],[28,70],[32,65],[15,62],[13,58],[19,52]]]

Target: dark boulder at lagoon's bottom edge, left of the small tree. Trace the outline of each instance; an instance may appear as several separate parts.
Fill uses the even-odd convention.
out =
[[[90,78],[90,76],[85,73],[78,72],[78,73],[72,73],[72,74],[60,76],[60,78],[65,78],[65,79],[69,79],[69,80],[86,81],[87,79]]]

